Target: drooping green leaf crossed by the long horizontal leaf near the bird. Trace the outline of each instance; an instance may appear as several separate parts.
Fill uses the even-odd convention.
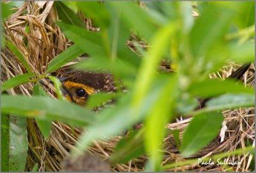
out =
[[[34,96],[48,96],[47,93],[45,93],[44,88],[42,86],[40,86],[39,84],[36,84],[33,87],[33,95]],[[44,135],[44,137],[46,139],[49,138],[50,136],[50,132],[51,132],[51,126],[52,126],[52,122],[51,121],[47,121],[47,120],[42,120],[42,119],[36,119],[36,124],[38,125],[40,131],[42,132],[42,134]]]

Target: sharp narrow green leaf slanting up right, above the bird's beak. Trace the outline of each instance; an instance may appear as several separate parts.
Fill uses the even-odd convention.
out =
[[[64,64],[72,61],[76,57],[81,56],[83,53],[84,51],[81,50],[80,47],[76,44],[68,47],[68,49],[64,50],[63,52],[61,52],[61,54],[52,59],[51,63],[47,68],[46,73],[51,73],[52,71],[57,70]]]

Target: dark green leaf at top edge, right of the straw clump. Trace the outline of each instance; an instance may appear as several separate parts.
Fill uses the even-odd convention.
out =
[[[54,5],[56,7],[58,17],[62,22],[72,24],[74,26],[85,27],[83,20],[81,20],[74,11],[70,10],[66,4],[61,1],[56,1],[54,2]]]

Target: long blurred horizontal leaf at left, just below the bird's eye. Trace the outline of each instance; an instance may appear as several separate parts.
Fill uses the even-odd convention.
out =
[[[59,101],[42,96],[1,96],[1,112],[17,116],[36,117],[47,121],[62,121],[74,126],[95,123],[91,110],[74,103]]]

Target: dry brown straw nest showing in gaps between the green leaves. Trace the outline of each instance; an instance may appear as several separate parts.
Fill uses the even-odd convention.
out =
[[[51,59],[72,44],[61,33],[60,28],[54,24],[54,20],[58,20],[58,13],[53,3],[53,1],[27,1],[16,13],[4,22],[4,35],[6,39],[17,45],[20,52],[26,57],[31,68],[38,74],[44,73]],[[82,15],[81,19],[84,20],[87,29],[92,31],[98,30],[92,26],[90,19],[85,19]],[[27,27],[29,28],[29,32],[26,31]],[[127,41],[127,45],[132,49],[131,41]],[[147,47],[147,45],[143,44],[143,47]],[[3,57],[1,59],[1,82],[25,73],[26,70],[10,50],[4,49],[1,52],[1,56]],[[211,77],[225,79],[238,67],[239,64],[230,63],[221,72],[214,73]],[[164,67],[162,66],[161,68]],[[251,66],[243,77],[245,86],[253,85],[253,73],[254,69]],[[8,93],[12,95],[24,94],[30,96],[32,89],[33,83],[28,83],[9,89]],[[54,93],[54,88],[50,87],[48,93],[54,97],[54,94],[52,94]],[[191,156],[191,158],[201,158],[211,156],[214,153],[234,151],[239,147],[245,147],[248,142],[254,141],[254,108],[225,110],[223,115],[225,116],[225,121],[220,132],[221,137],[216,137],[209,146]],[[181,137],[184,128],[188,126],[191,119],[192,117],[185,119],[180,117],[180,119],[177,119],[177,122],[168,124],[167,128],[180,130]],[[61,122],[52,122],[51,135],[49,139],[44,139],[36,125],[36,121],[34,119],[28,119],[29,151],[26,171],[31,171],[36,163],[38,163],[39,171],[52,172],[61,170],[61,163],[67,158],[69,151],[74,147],[81,133],[82,131],[79,128],[71,128]],[[116,144],[122,138],[123,136],[116,136],[108,141],[94,141],[93,146],[89,148],[89,152],[97,154],[102,158],[109,158]],[[163,141],[165,146],[163,151],[163,165],[184,160],[180,156],[173,141],[171,134]],[[252,155],[230,156],[230,160],[239,160],[242,163],[233,167],[233,170],[248,171],[252,162]],[[126,164],[116,164],[115,167],[112,167],[112,170],[142,171],[145,170],[146,162],[147,156],[140,156]],[[186,165],[170,169],[170,171],[225,171],[225,169],[227,167],[217,165]]]

